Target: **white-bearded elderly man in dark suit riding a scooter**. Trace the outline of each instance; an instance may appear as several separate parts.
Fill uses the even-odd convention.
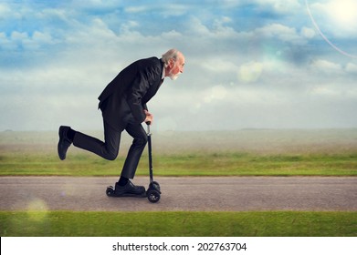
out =
[[[122,197],[145,196],[145,188],[133,185],[130,179],[135,176],[147,143],[142,122],[152,123],[153,119],[146,103],[156,94],[165,76],[174,80],[183,72],[184,55],[176,49],[170,49],[160,59],[152,56],[125,67],[99,97],[105,141],[61,126],[58,131],[58,157],[65,159],[68,147],[73,143],[75,147],[114,160],[119,153],[121,132],[126,130],[133,141],[121,170],[121,178],[115,184],[115,194]]]

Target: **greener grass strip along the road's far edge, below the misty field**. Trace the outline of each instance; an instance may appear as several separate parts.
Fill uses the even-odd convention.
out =
[[[108,161],[87,152],[69,154],[64,161],[47,152],[4,153],[0,176],[117,176],[124,158]],[[147,154],[137,176],[148,174]],[[285,154],[182,153],[154,154],[156,176],[356,176],[357,153]]]

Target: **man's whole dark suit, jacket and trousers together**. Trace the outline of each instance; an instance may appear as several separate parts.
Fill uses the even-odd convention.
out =
[[[163,83],[162,77],[163,61],[157,57],[141,59],[124,68],[99,97],[105,142],[77,132],[73,144],[114,160],[119,153],[121,132],[125,129],[134,139],[121,176],[132,179],[147,143],[142,128],[146,117],[144,109]]]

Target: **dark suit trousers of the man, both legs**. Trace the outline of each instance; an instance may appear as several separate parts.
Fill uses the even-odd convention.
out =
[[[142,124],[135,123],[133,119],[129,119],[124,128],[118,130],[112,128],[105,120],[103,120],[103,126],[104,142],[98,138],[92,138],[86,134],[76,132],[73,139],[73,145],[93,152],[101,158],[114,160],[118,157],[121,143],[121,132],[125,129],[133,140],[121,170],[121,176],[133,179],[140,158],[142,157],[142,151],[145,148],[148,139],[144,128],[142,128]]]

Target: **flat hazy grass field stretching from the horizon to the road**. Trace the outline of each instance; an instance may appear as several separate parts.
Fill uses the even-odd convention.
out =
[[[122,133],[114,161],[73,146],[61,161],[57,142],[54,131],[1,132],[0,175],[118,176],[131,138]],[[153,132],[152,149],[159,176],[357,175],[357,128]],[[145,150],[138,176],[148,174],[147,156]]]

